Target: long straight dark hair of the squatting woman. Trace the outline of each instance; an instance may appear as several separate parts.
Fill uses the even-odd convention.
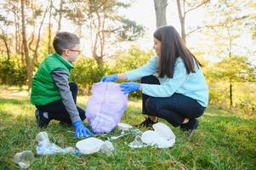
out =
[[[162,26],[156,29],[154,37],[161,42],[161,56],[158,61],[159,77],[165,75],[174,77],[174,65],[178,57],[184,62],[187,74],[195,72],[194,60],[196,60],[197,66],[201,65],[191,51],[185,47],[185,42],[174,26]]]

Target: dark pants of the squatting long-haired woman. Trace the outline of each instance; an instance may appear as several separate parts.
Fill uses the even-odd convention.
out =
[[[155,76],[142,77],[141,83],[160,84]],[[197,118],[202,116],[205,107],[196,99],[191,99],[183,94],[173,94],[170,97],[159,98],[142,94],[142,113],[157,116],[167,120],[174,127],[178,127],[185,118]]]

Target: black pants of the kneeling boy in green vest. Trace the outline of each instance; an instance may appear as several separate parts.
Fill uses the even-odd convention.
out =
[[[70,86],[71,94],[75,101],[75,104],[77,104],[77,91],[78,91],[77,82],[69,82],[69,86]],[[61,99],[54,101],[52,103],[49,103],[48,105],[36,105],[36,107],[39,111],[48,112],[48,118],[50,120],[54,119],[60,122],[71,124],[70,115],[65,110],[65,105],[63,104]],[[80,118],[83,121],[86,118],[85,111],[78,106],[77,106],[77,110],[79,112]]]

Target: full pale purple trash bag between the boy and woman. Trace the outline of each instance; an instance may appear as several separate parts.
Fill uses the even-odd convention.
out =
[[[115,82],[94,83],[92,90],[86,108],[88,124],[94,133],[110,133],[126,110],[128,94],[122,94]]]

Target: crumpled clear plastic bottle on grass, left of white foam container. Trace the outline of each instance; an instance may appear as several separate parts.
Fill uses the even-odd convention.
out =
[[[65,147],[65,148],[60,148],[60,146],[50,143],[48,139],[48,133],[46,132],[41,132],[37,134],[36,137],[37,140],[37,154],[38,155],[54,155],[57,153],[76,153],[75,148],[73,147]]]

